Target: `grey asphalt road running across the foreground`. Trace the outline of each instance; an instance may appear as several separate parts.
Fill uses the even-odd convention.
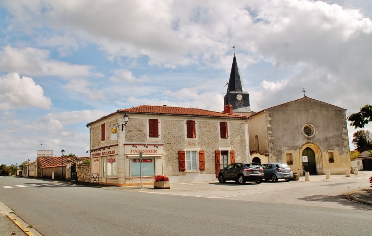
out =
[[[159,191],[7,177],[0,201],[43,235],[371,235],[372,206],[344,198],[371,175]]]

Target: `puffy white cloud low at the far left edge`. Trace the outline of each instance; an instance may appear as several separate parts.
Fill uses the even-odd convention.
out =
[[[50,98],[30,77],[20,78],[18,73],[0,76],[0,110],[14,110],[28,106],[50,109]]]

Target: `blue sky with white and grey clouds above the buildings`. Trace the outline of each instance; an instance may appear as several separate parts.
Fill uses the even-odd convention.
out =
[[[371,19],[370,0],[2,0],[0,163],[88,156],[86,124],[118,109],[222,111],[232,46],[253,111],[305,88],[348,116],[371,104]]]

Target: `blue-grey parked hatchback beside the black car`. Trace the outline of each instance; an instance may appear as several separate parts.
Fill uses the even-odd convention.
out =
[[[290,181],[293,178],[292,169],[286,163],[267,163],[261,165],[265,180],[277,182],[278,179]]]

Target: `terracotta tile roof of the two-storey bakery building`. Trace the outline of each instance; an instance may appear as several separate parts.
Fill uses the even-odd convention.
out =
[[[157,115],[177,115],[177,116],[198,116],[198,117],[215,117],[215,118],[229,118],[229,119],[241,119],[248,120],[247,116],[233,115],[217,111],[203,110],[199,108],[184,108],[174,106],[151,106],[151,105],[140,105],[136,107],[120,109],[109,115],[105,115],[98,120],[90,122],[87,126],[103,120],[116,113],[133,113],[133,114],[157,114]],[[130,119],[130,117],[129,117]]]

